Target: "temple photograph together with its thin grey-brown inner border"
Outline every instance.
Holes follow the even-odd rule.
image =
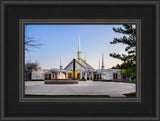
[[[25,68],[21,69],[24,78],[20,77],[20,80],[24,80],[20,84],[21,101],[33,100],[33,97],[56,101],[55,97],[57,96],[58,101],[60,101],[60,97],[81,97],[78,100],[74,98],[77,101],[86,101],[87,97],[92,97],[87,101],[140,101],[140,76],[138,76],[139,79],[136,79],[136,56],[140,60],[140,50],[138,50],[138,54],[136,53],[136,41],[137,46],[140,45],[140,38],[137,37],[140,34],[140,20],[85,19],[84,22],[84,19],[22,19],[19,30],[23,31],[20,39],[24,38],[20,44],[24,49],[19,52],[24,58],[22,62],[25,63]],[[31,32],[32,30],[35,34]],[[120,32],[122,30],[123,32]],[[129,31],[131,32],[127,34]],[[126,35],[121,36],[124,32]],[[105,33],[108,33],[108,39],[112,38],[113,41],[107,41],[107,37],[102,37]],[[121,33],[117,35],[119,39],[113,37],[115,33]],[[40,35],[42,35],[41,40],[34,39]],[[82,41],[82,35],[89,40]],[[109,37],[109,35],[112,36]],[[69,36],[68,39],[66,36]],[[42,39],[43,37],[44,39]],[[46,41],[46,37],[48,37],[48,41]],[[132,38],[131,41],[130,38]],[[76,39],[77,49],[75,48]],[[121,44],[119,49],[112,47],[112,44],[119,40],[121,40],[119,43],[124,44],[126,39],[130,43],[127,41],[125,46]],[[43,40],[45,41],[43,42]],[[101,46],[100,48],[98,48],[98,44]],[[85,46],[86,52],[89,51],[87,59],[86,52],[82,52],[83,46]],[[39,50],[31,51],[37,48]],[[125,52],[127,48],[129,48],[127,50],[129,54]],[[23,52],[23,50],[25,51]],[[77,53],[76,59],[72,56],[74,51]],[[123,54],[113,53],[115,51]],[[42,54],[43,52],[45,53]],[[34,55],[34,53],[36,54]],[[38,56],[38,53],[41,57]],[[45,57],[47,53],[48,56]],[[32,62],[31,59],[36,56],[39,57],[39,60],[35,59],[35,62]],[[43,61],[44,57],[48,59]],[[21,60],[22,58],[19,61]],[[65,67],[63,67],[62,61],[65,63]],[[43,67],[40,63],[43,64]],[[130,73],[129,76],[127,76],[128,73]],[[140,71],[137,73],[140,74]],[[37,85],[39,86],[37,87]],[[96,98],[93,99],[93,97]],[[71,101],[70,98],[68,99]]]

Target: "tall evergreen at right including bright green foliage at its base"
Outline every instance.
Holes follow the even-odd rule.
[[[113,31],[117,33],[121,33],[124,36],[121,38],[114,38],[111,44],[118,44],[122,43],[127,45],[125,48],[126,54],[117,54],[117,53],[110,53],[110,56],[113,58],[120,59],[123,61],[121,65],[117,64],[115,67],[112,68],[119,68],[122,70],[122,75],[125,77],[132,77],[135,79],[136,77],[136,27],[132,24],[123,24],[122,27],[114,28]]]

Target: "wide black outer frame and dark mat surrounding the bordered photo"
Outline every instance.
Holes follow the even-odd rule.
[[[159,5],[159,0],[1,1],[1,120],[159,120]],[[21,19],[140,20],[141,100],[21,101]]]

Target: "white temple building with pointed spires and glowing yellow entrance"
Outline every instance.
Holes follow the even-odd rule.
[[[119,69],[105,69],[104,66],[104,54],[102,53],[102,65],[99,69],[93,68],[89,65],[86,59],[82,59],[81,46],[80,46],[80,36],[78,42],[78,52],[77,59],[72,59],[66,67],[62,66],[62,59],[60,57],[59,69],[51,68],[49,70],[32,70],[31,78],[32,80],[43,79],[58,79],[63,76],[64,79],[84,79],[84,80],[118,80],[121,79],[121,70]]]

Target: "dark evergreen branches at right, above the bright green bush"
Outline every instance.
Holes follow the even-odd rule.
[[[127,45],[125,51],[128,53],[126,54],[117,54],[111,53],[110,56],[113,58],[117,58],[122,60],[124,63],[131,63],[132,65],[136,64],[136,28],[133,27],[132,24],[123,24],[123,27],[114,28],[113,31],[117,33],[124,34],[121,38],[114,38],[111,44],[122,43]]]

